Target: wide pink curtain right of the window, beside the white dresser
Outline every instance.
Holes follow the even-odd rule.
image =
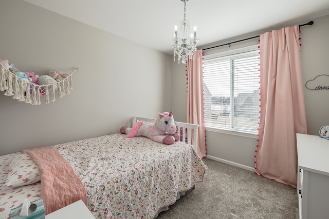
[[[299,27],[260,35],[257,174],[297,188],[296,133],[307,133]]]

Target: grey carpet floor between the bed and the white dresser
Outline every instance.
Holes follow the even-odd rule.
[[[157,219],[296,219],[297,189],[208,158],[203,183],[181,196]]]

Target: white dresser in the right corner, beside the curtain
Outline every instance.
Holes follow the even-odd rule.
[[[297,134],[300,219],[329,218],[329,140]]]

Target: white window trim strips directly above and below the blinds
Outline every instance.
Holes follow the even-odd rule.
[[[234,54],[238,54],[238,53],[250,52],[250,51],[254,51],[254,50],[259,50],[259,45],[252,45],[252,46],[242,47],[239,49],[232,49],[232,50],[228,50],[228,51],[208,54],[208,55],[204,55],[203,58],[204,58],[204,60],[207,60],[207,59],[212,59],[212,58],[234,55]],[[213,126],[211,126],[211,127],[205,126],[205,130],[211,131],[211,132],[223,133],[223,134],[244,136],[244,137],[249,137],[249,138],[256,138],[256,139],[258,138],[258,134],[255,134],[255,133],[247,133],[247,132],[243,132],[243,131],[233,131],[233,130],[223,129],[223,128],[219,128],[219,127],[213,127]]]

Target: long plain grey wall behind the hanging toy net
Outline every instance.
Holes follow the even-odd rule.
[[[54,103],[0,91],[0,155],[116,133],[135,115],[170,111],[170,55],[20,0],[2,1],[0,19],[0,58],[39,75],[80,69]]]

